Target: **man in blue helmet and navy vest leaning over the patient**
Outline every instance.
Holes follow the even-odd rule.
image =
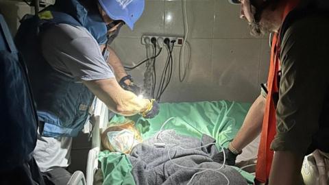
[[[138,88],[108,47],[143,9],[144,0],[58,0],[21,23],[15,42],[29,69],[41,136],[34,158],[49,184],[69,180],[72,137],[88,121],[95,96],[118,114],[158,114],[156,101],[130,92]]]

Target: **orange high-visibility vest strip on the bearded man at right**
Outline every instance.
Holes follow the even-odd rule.
[[[284,8],[283,19],[293,10],[298,4],[298,0],[287,2]],[[271,45],[271,60],[269,65],[269,77],[267,79],[267,99],[265,113],[263,119],[263,128],[260,136],[260,144],[258,149],[258,159],[256,165],[256,180],[258,182],[267,182],[271,164],[273,160],[273,151],[269,148],[271,142],[276,135],[276,103],[273,97],[278,97],[279,78],[280,78],[280,36],[273,35]]]

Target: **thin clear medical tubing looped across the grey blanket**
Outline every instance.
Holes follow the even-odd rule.
[[[171,119],[175,119],[175,117],[170,117],[169,119],[167,119],[167,121],[164,121],[164,123],[163,123],[162,126],[160,127],[160,131],[158,132],[158,134],[157,134],[157,136],[156,136],[156,139],[157,139],[157,140],[160,138],[161,142],[163,142],[163,141],[162,141],[162,138],[161,138],[161,132],[163,131],[164,125],[167,125],[167,123],[169,123],[169,121],[170,121]],[[209,146],[209,145],[216,145],[216,143],[208,143],[207,145],[203,145],[203,146],[201,146],[201,147],[195,147],[195,148],[191,148],[191,149],[185,149],[185,148],[180,147],[180,146],[178,146],[178,145],[173,145],[173,147],[180,147],[180,149],[183,149],[183,150],[192,150],[192,149],[199,149],[199,148],[202,148],[202,147],[207,147],[207,146]],[[170,145],[165,145],[165,146],[170,146]],[[226,178],[226,180],[228,181],[228,184],[227,184],[227,185],[230,184],[230,180],[228,179],[228,177],[227,177],[225,174],[223,174],[221,171],[218,171],[218,170],[222,169],[223,167],[225,167],[226,153],[225,153],[224,150],[223,150],[223,146],[219,145],[219,147],[221,147],[221,151],[223,152],[223,158],[224,158],[224,160],[223,160],[223,164],[222,164],[221,167],[219,167],[218,169],[207,169],[207,168],[184,167],[184,166],[182,166],[182,165],[180,165],[180,164],[176,164],[175,162],[173,162],[173,160],[172,160],[171,157],[170,157],[170,151],[171,151],[171,149],[173,149],[173,147],[170,147],[170,148],[168,149],[168,158],[169,158],[169,161],[172,162],[175,166],[177,166],[177,167],[181,167],[181,168],[183,168],[183,169],[202,170],[202,171],[199,171],[199,172],[195,173],[195,174],[191,177],[191,180],[188,181],[187,185],[191,184],[191,182],[192,182],[193,178],[195,177],[195,175],[197,175],[197,174],[199,174],[199,173],[204,173],[205,171],[215,171],[216,173],[219,173],[219,174],[223,175],[223,176]]]

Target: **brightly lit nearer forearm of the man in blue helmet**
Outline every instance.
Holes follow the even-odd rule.
[[[134,93],[123,90],[114,78],[87,81],[84,84],[106,103],[111,111],[123,116],[145,112],[150,103],[148,99],[138,98]]]

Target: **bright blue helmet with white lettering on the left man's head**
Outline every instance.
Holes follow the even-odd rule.
[[[134,29],[134,23],[143,14],[145,0],[98,0],[101,8],[113,20],[122,20]]]

